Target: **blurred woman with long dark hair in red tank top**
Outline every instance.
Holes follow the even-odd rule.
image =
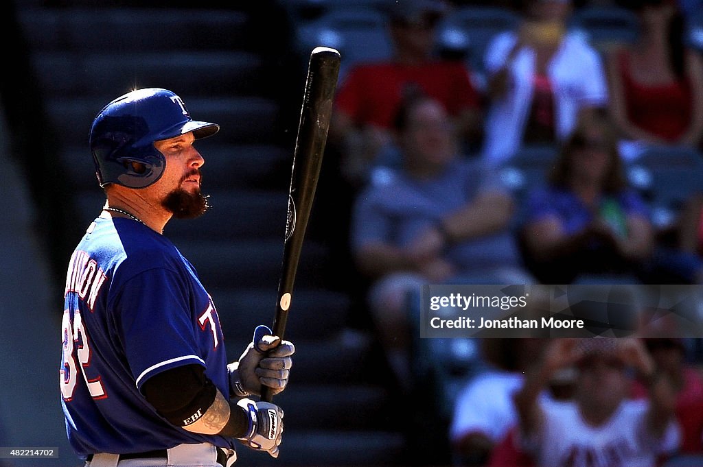
[[[684,19],[671,0],[628,0],[640,39],[607,56],[610,110],[623,156],[647,144],[697,147],[703,136],[703,62],[684,44]]]

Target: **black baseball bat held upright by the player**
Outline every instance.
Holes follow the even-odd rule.
[[[334,48],[316,47],[310,54],[300,121],[293,152],[285,221],[283,266],[278,284],[273,335],[283,339],[292,301],[293,283],[302,250],[305,230],[320,176],[332,104],[340,72],[340,53]],[[271,402],[271,388],[262,386],[261,399]]]

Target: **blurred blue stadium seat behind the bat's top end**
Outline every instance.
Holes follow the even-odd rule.
[[[340,51],[340,78],[356,63],[387,60],[392,56],[387,18],[372,8],[335,8],[301,25],[297,30],[297,49],[306,64],[316,46]]]

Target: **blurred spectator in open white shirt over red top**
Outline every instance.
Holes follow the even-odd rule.
[[[600,55],[566,29],[569,0],[524,0],[517,32],[504,32],[486,51],[490,107],[483,154],[491,164],[524,144],[553,144],[580,114],[607,106]]]

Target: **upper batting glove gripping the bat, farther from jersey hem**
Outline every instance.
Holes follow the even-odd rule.
[[[268,327],[258,326],[239,361],[227,366],[233,394],[261,395],[262,385],[271,388],[271,394],[280,393],[288,384],[293,353],[290,341],[281,341]]]

